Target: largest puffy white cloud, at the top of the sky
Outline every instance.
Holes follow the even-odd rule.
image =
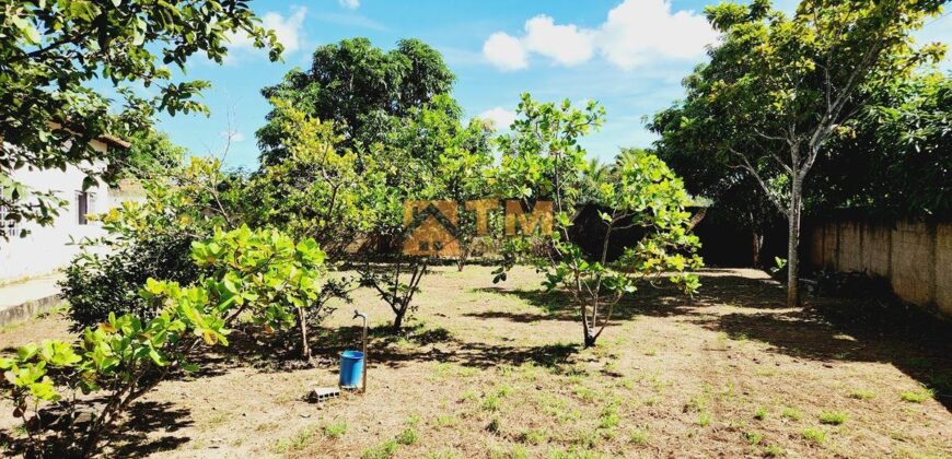
[[[595,28],[559,25],[547,15],[525,22],[522,37],[503,32],[489,36],[484,56],[503,70],[529,67],[529,56],[539,55],[562,66],[589,61],[597,51],[608,62],[629,70],[661,60],[694,59],[717,33],[704,15],[671,11],[670,0],[624,0]]]

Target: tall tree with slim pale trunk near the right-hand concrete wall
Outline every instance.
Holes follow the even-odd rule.
[[[867,106],[863,94],[942,55],[938,44],[914,49],[909,37],[941,3],[805,0],[792,16],[767,0],[706,10],[722,42],[685,80],[688,116],[681,123],[699,123],[695,129],[710,150],[750,173],[788,219],[788,304],[800,302],[798,249],[810,170],[832,136]]]

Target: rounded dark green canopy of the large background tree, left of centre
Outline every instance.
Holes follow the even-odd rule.
[[[402,39],[396,48],[384,51],[367,38],[351,38],[317,48],[310,70],[292,70],[262,93],[269,99],[288,101],[309,116],[334,121],[347,146],[355,148],[383,141],[394,127],[394,117],[449,94],[453,80],[440,52],[420,40]],[[265,164],[286,154],[278,113],[272,110],[257,132]]]

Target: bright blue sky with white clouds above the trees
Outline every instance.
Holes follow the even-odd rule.
[[[647,146],[651,116],[682,96],[681,80],[703,60],[712,39],[700,17],[715,0],[585,1],[253,1],[265,25],[286,46],[283,62],[235,37],[228,61],[219,66],[193,59],[188,79],[208,80],[202,102],[211,116],[165,117],[160,128],[193,154],[220,156],[231,138],[225,163],[255,167],[255,130],[268,104],[263,86],[294,67],[310,66],[312,51],[343,38],[364,36],[384,49],[400,38],[419,38],[443,54],[456,74],[454,96],[466,116],[506,125],[530,92],[542,101],[595,99],[605,106],[604,127],[590,136],[589,154],[608,160],[619,146]],[[777,4],[791,10],[793,0]],[[952,36],[952,19],[929,24],[929,40]],[[943,63],[950,68],[949,58]],[[231,133],[229,136],[229,132]]]

